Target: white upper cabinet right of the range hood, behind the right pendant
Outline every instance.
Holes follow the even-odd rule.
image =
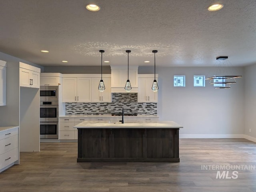
[[[138,102],[158,102],[158,92],[152,91],[152,84],[154,81],[154,74],[140,74],[138,78]],[[156,74],[157,76],[157,74]],[[158,78],[156,77],[158,81]]]

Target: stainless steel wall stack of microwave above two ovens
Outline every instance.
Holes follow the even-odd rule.
[[[58,139],[58,86],[40,86],[40,139]]]

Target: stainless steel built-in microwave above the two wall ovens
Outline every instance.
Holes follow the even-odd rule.
[[[58,101],[58,86],[40,86],[40,101]]]

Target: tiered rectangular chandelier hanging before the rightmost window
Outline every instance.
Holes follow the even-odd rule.
[[[218,63],[218,75],[206,78],[206,80],[210,80],[210,84],[213,84],[215,89],[230,88],[230,84],[236,83],[236,78],[242,77],[240,75],[222,74],[223,72],[221,71],[221,67],[229,67],[226,59],[228,59],[228,56],[217,57],[216,60]]]

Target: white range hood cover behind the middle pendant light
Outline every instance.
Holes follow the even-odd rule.
[[[128,79],[127,66],[111,66],[111,92],[126,92],[124,89]],[[129,67],[130,92],[138,92],[138,66]]]

